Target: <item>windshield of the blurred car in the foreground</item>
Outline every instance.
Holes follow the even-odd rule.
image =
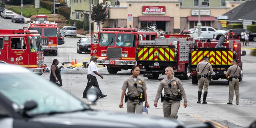
[[[90,109],[70,92],[32,73],[0,74],[0,94],[18,106],[28,100],[34,100],[37,107],[27,112],[28,115],[73,112]]]

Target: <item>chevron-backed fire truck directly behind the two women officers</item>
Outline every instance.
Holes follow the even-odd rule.
[[[189,46],[195,39],[186,34],[166,34],[150,43],[141,41],[136,48],[136,61],[148,79],[158,79],[164,74],[167,66],[173,68],[174,76],[189,79],[190,67],[188,64]]]

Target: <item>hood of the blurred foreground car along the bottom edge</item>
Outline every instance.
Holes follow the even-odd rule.
[[[138,114],[110,113],[100,111],[73,112],[35,117],[43,128],[177,128],[185,125],[170,120]],[[180,127],[179,127],[180,128]],[[181,127],[182,128],[182,127]]]

